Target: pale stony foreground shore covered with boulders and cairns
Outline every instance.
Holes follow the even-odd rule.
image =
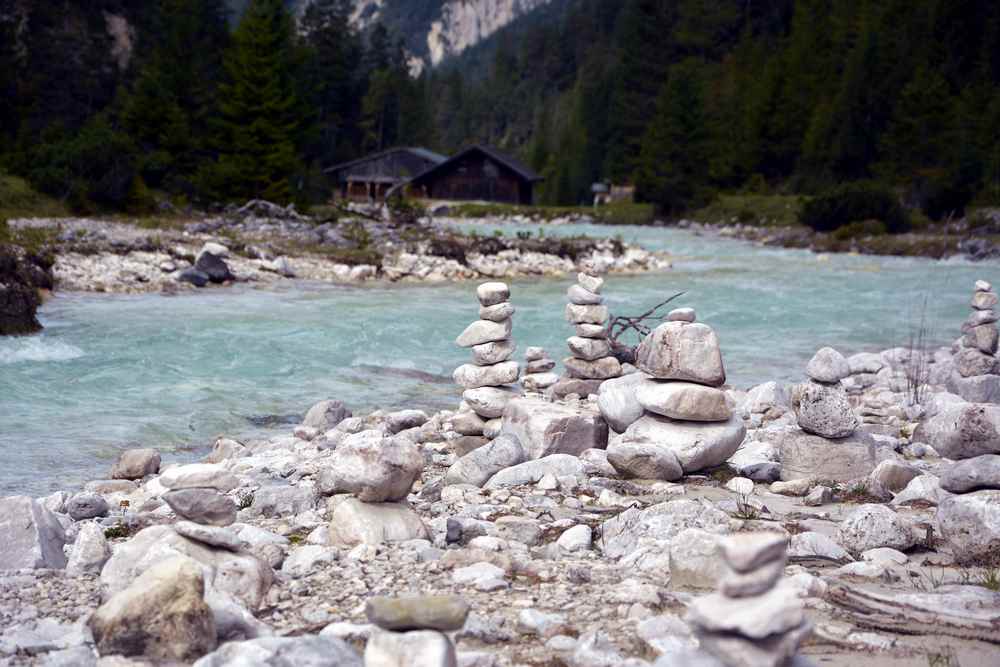
[[[570,288],[577,333],[601,290]],[[133,449],[82,490],[0,499],[0,663],[1000,658],[991,285],[951,347],[825,347],[803,382],[746,391],[725,332],[679,308],[635,366],[561,398],[516,384],[552,370],[510,361],[516,294],[476,297],[455,411],[324,400],[201,463]]]

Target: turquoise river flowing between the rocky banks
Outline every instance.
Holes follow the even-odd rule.
[[[525,229],[534,228],[516,230]],[[996,263],[823,257],[675,229],[545,229],[581,232],[670,251],[673,271],[607,280],[611,311],[636,314],[685,291],[676,305],[693,306],[716,329],[740,387],[801,378],[823,345],[845,353],[907,345],[922,314],[930,339],[947,344],[973,282],[1000,280]],[[512,284],[521,350],[542,345],[563,356],[571,283]],[[0,340],[0,496],[104,477],[129,446],[191,460],[216,435],[266,433],[324,398],[359,413],[454,407],[448,376],[468,358],[454,339],[477,307],[470,283],[59,294],[41,310],[42,334]]]

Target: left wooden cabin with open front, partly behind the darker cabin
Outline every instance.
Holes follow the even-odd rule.
[[[446,160],[444,155],[426,148],[399,147],[337,164],[324,172],[334,181],[336,196],[376,201],[385,197],[390,188]]]

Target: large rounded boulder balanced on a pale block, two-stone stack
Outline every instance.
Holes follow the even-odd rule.
[[[319,475],[330,499],[329,542],[353,547],[426,539],[427,527],[406,502],[424,469],[420,446],[382,430],[366,430],[337,445]],[[350,494],[350,495],[346,495]]]

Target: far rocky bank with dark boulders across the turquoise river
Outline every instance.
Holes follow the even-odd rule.
[[[480,237],[432,219],[405,226],[368,218],[323,222],[252,204],[227,216],[154,228],[65,218],[10,225],[50,231],[55,285],[65,291],[170,292],[289,279],[435,283],[558,277],[584,268],[610,273],[670,268],[665,254],[612,239]]]

